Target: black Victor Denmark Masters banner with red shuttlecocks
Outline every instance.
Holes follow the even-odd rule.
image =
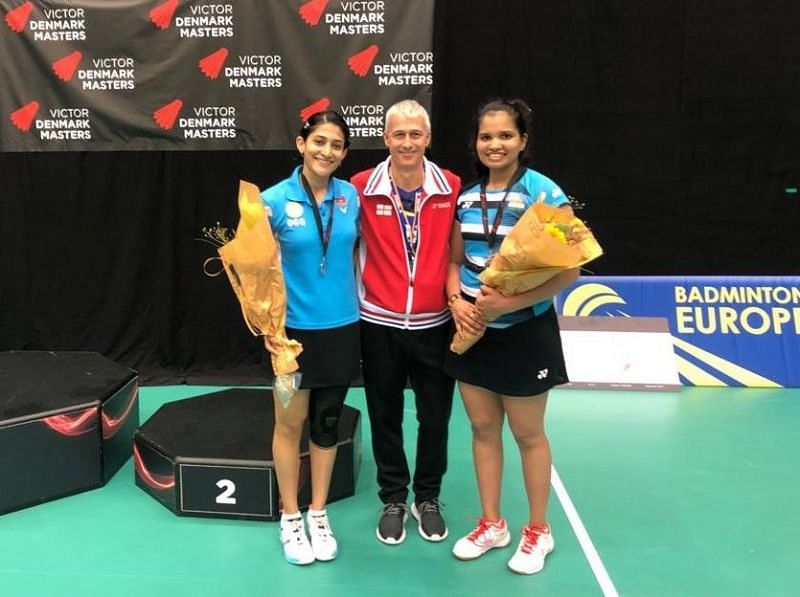
[[[430,108],[434,0],[0,0],[0,151],[289,149]]]

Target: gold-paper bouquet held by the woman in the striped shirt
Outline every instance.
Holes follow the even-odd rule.
[[[541,194],[503,239],[478,276],[481,283],[512,296],[541,286],[567,269],[597,259],[603,249],[572,210],[544,202]],[[466,352],[482,334],[456,333],[450,350]]]

